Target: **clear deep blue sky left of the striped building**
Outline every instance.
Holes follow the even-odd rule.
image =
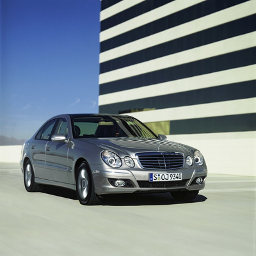
[[[0,135],[98,113],[100,0],[0,0]]]

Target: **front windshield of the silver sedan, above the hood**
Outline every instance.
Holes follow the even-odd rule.
[[[73,120],[74,138],[157,138],[150,129],[131,116],[90,116]]]

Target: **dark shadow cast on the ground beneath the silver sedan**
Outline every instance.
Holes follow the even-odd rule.
[[[71,200],[77,200],[76,191],[54,186],[45,186],[42,193],[60,196]],[[107,195],[102,198],[103,206],[140,206],[140,205],[172,205],[172,204],[192,204],[204,202],[207,198],[204,195],[198,195],[192,201],[175,200],[170,192],[166,193],[148,193],[148,194],[118,194]]]

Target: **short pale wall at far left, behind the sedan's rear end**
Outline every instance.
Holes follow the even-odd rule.
[[[0,146],[0,163],[19,163],[22,146]]]

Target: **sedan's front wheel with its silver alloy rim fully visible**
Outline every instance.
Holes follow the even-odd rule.
[[[100,198],[94,192],[92,174],[90,172],[88,165],[85,162],[79,165],[76,174],[76,193],[80,204],[100,204]]]

